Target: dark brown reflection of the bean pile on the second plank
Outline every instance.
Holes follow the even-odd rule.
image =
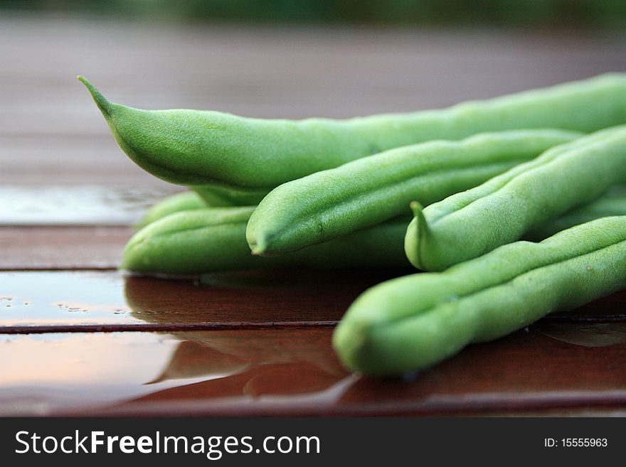
[[[133,316],[149,323],[335,321],[356,296],[405,270],[268,270],[193,281],[128,277]],[[409,271],[410,272],[410,271]]]

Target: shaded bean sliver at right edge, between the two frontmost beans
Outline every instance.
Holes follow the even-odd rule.
[[[575,208],[560,218],[548,220],[548,222],[524,235],[524,240],[540,242],[574,225],[584,224],[599,218],[607,218],[612,215],[626,215],[626,186],[620,185],[612,188],[601,198],[580,208]]]

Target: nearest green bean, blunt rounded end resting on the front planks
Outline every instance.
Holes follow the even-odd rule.
[[[334,348],[351,370],[400,375],[625,286],[626,217],[602,218],[378,284],[350,306]]]

